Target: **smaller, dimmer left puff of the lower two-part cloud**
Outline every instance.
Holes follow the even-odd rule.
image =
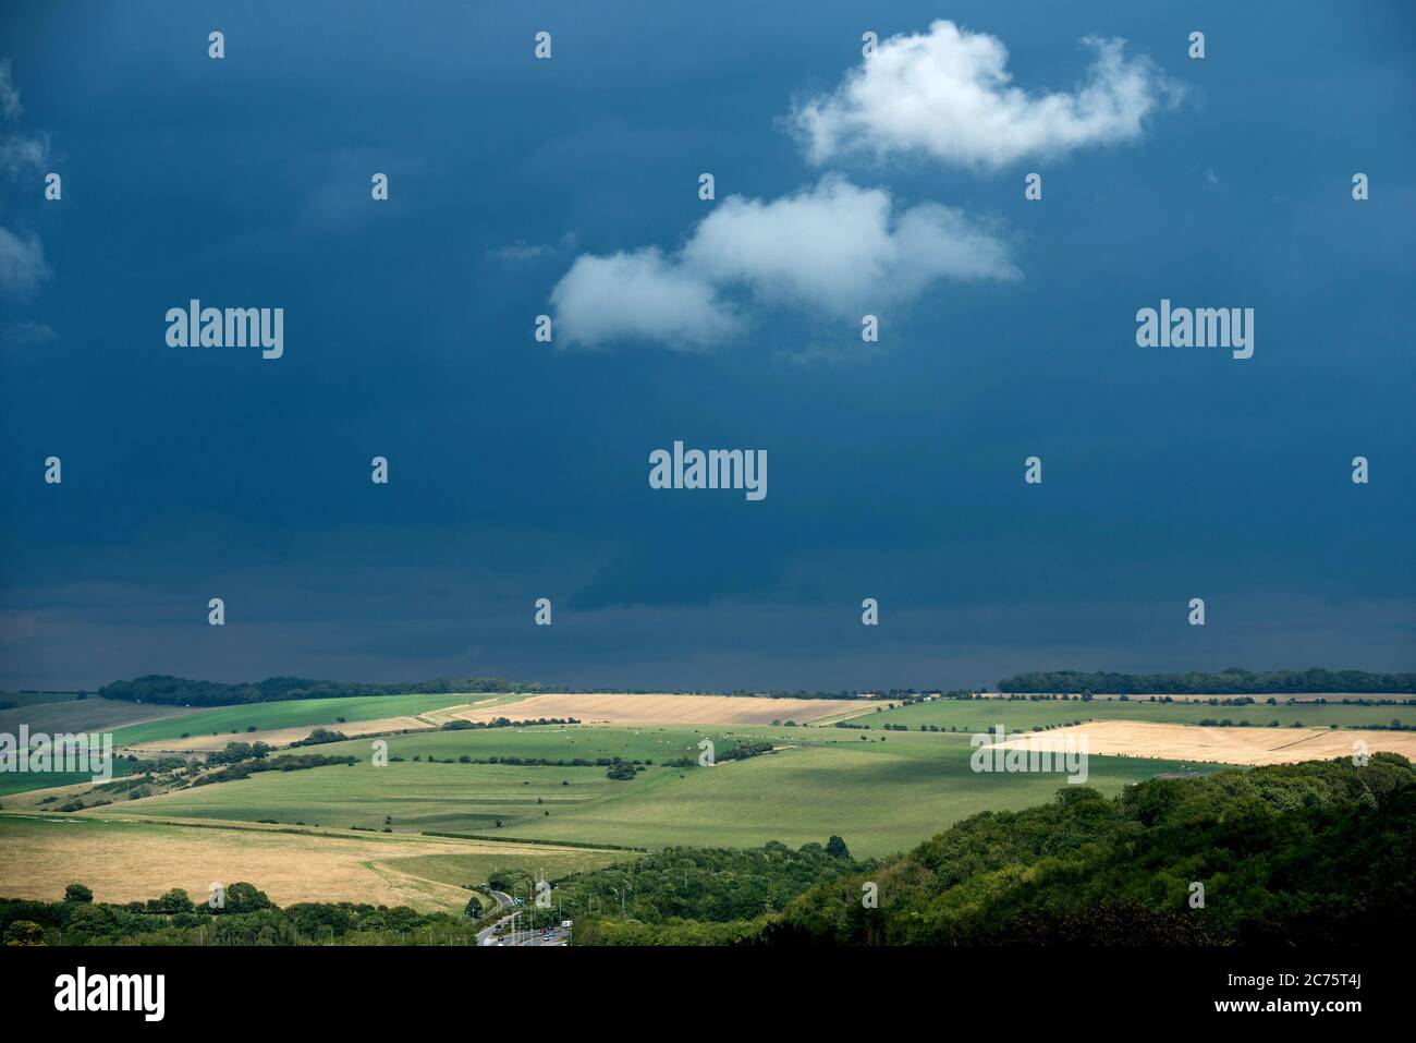
[[[583,254],[551,291],[556,340],[565,347],[651,340],[702,349],[738,330],[712,285],[650,247],[633,254]]]

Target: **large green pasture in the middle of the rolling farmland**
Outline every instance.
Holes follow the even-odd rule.
[[[792,744],[776,754],[712,768],[664,768],[615,781],[605,768],[446,764],[463,754],[517,757],[620,755],[663,761],[692,755],[704,737],[722,751],[735,740]],[[1059,775],[988,775],[970,769],[966,737],[838,728],[565,727],[394,735],[374,767],[370,741],[321,747],[351,752],[353,767],[263,772],[125,802],[123,815],[455,832],[581,843],[666,846],[793,846],[847,839],[852,852],[908,847],[980,811],[1024,808],[1052,798]],[[438,762],[415,762],[435,755]],[[1170,761],[1090,758],[1089,785],[1114,794],[1127,782],[1177,771]],[[113,812],[105,808],[103,812]],[[501,825],[497,826],[500,819]]]

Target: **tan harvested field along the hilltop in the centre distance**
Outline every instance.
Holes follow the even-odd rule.
[[[843,709],[838,699],[568,693],[530,696],[514,706],[477,707],[453,716],[467,721],[575,717],[582,724],[770,724],[776,720],[803,724]]]

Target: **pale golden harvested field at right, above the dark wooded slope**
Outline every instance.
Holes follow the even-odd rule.
[[[1005,747],[1062,750],[1068,737],[1086,735],[1087,752],[1116,757],[1154,757],[1212,764],[1291,764],[1351,757],[1355,743],[1368,752],[1398,752],[1416,760],[1416,733],[1355,731],[1348,728],[1216,728],[1194,724],[1092,721],[1070,728],[1017,735]]]

